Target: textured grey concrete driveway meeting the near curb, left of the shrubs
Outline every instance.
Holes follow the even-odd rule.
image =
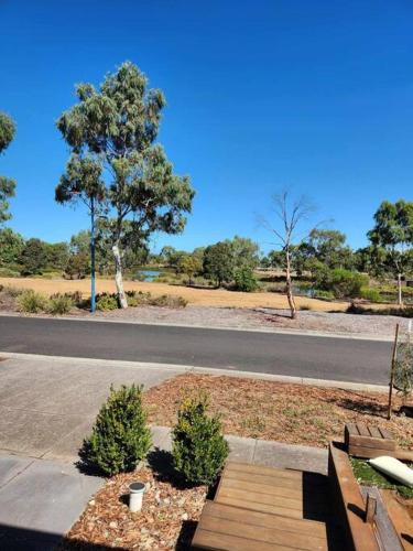
[[[111,383],[149,388],[177,372],[94,359],[1,359],[0,451],[74,461]]]

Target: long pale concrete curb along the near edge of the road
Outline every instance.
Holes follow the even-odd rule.
[[[170,370],[172,374],[206,374],[215,376],[226,376],[226,377],[239,377],[244,379],[258,379],[267,380],[273,382],[284,382],[290,385],[305,385],[313,387],[324,387],[324,388],[340,388],[344,390],[358,390],[363,392],[388,392],[389,387],[385,385],[372,385],[369,382],[354,382],[354,381],[339,381],[334,379],[317,379],[311,377],[294,377],[289,375],[272,375],[272,374],[260,374],[256,371],[242,371],[238,369],[224,369],[214,367],[200,367],[191,365],[175,365],[175,364],[155,364],[146,361],[127,361],[127,360],[116,360],[116,359],[97,359],[97,358],[76,358],[67,356],[46,356],[40,354],[22,354],[22,353],[8,353],[1,352],[3,355],[2,359],[35,359],[44,360],[50,363],[63,363],[63,364],[77,364],[83,365],[95,365],[105,366],[109,368],[126,367],[132,369],[155,369],[155,370]]]

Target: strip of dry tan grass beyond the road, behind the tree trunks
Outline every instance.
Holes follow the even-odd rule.
[[[64,279],[0,278],[0,283],[21,289],[34,289],[47,295],[80,291],[83,295],[87,296],[90,293],[90,280],[87,279],[69,281]],[[279,293],[241,293],[225,289],[193,289],[184,285],[139,281],[126,281],[124,288],[127,291],[150,291],[155,296],[161,294],[180,295],[186,299],[189,304],[198,306],[287,309],[285,296]],[[98,279],[97,292],[115,292],[113,280]],[[345,311],[348,306],[348,302],[335,302],[332,304],[301,296],[296,298],[296,303],[298,307],[308,306],[311,310],[319,312],[328,312],[330,310]]]

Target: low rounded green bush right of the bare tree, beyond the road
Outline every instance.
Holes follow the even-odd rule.
[[[316,287],[324,291],[332,291],[337,299],[360,296],[361,288],[366,287],[369,278],[360,272],[336,268],[323,268],[316,274]]]

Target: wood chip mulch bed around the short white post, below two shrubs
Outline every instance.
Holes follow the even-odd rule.
[[[128,486],[149,484],[141,512],[128,508]],[[161,480],[150,468],[109,479],[88,503],[59,551],[97,549],[189,549],[207,488],[182,489]]]

